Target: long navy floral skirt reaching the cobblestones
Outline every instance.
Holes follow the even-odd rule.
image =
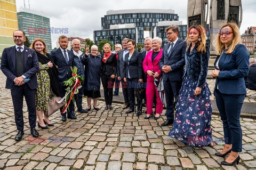
[[[170,137],[191,147],[207,146],[211,142],[211,91],[204,84],[201,94],[194,95],[197,82],[186,74],[179,92],[179,100]]]

